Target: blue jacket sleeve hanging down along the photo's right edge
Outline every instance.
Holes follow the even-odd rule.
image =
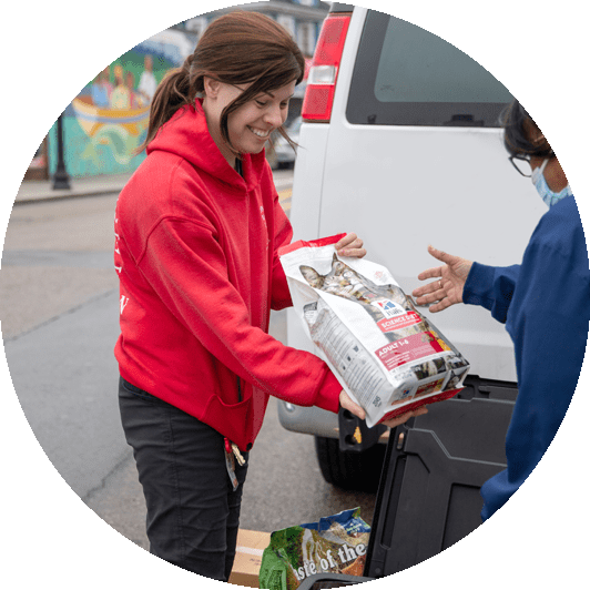
[[[525,253],[506,325],[519,386],[506,438],[508,467],[481,488],[484,520],[535,469],[576,390],[588,340],[590,281],[571,260],[542,242]]]

